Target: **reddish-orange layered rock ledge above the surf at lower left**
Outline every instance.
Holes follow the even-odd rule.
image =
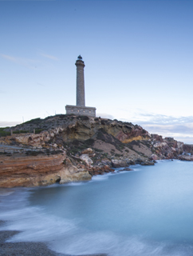
[[[44,186],[91,179],[88,170],[73,166],[65,152],[57,155],[0,155],[0,187]]]

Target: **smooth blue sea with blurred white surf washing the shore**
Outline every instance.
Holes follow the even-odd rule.
[[[7,242],[46,242],[61,254],[193,255],[193,162],[98,175],[89,182],[1,190]]]

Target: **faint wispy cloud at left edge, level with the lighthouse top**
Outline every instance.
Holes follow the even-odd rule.
[[[0,54],[0,56],[6,59],[7,61],[14,62],[18,65],[25,66],[30,69],[36,69],[37,63],[39,63],[39,61],[30,58],[18,58],[6,54]]]

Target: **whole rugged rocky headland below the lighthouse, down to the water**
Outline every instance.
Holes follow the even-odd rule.
[[[40,133],[30,132],[34,129]],[[157,159],[192,152],[192,146],[173,138],[104,118],[56,115],[7,128],[6,132],[10,130],[17,134],[1,137],[0,144],[27,146],[33,151],[0,155],[0,186],[4,187],[89,180],[94,174],[113,171],[112,167],[152,165]],[[53,150],[61,152],[53,154],[57,152]]]

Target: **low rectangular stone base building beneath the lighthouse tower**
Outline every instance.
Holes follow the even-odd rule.
[[[96,117],[96,108],[89,106],[65,106],[66,114],[77,114],[77,115],[87,115],[89,117]]]

